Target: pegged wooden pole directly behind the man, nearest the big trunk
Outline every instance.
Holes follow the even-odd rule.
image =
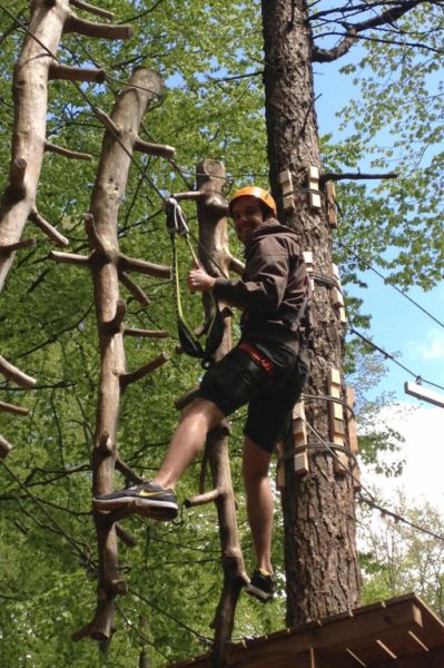
[[[197,203],[197,217],[199,223],[199,261],[211,276],[227,278],[229,271],[241,273],[243,264],[234,258],[228,247],[228,232],[226,215],[228,206],[224,197],[226,186],[226,171],[217,160],[203,160],[197,166],[196,193],[177,194],[177,199],[195,198]],[[204,294],[206,322],[211,322],[210,310],[214,307],[208,296]],[[219,304],[224,318],[225,331],[215,361],[220,360],[231,348],[230,317],[227,305]],[[177,402],[182,407],[194,396],[194,392]],[[188,499],[188,507],[214,502],[217,509],[221,566],[224,570],[224,584],[219,603],[211,627],[215,630],[211,666],[224,668],[228,666],[231,632],[236,612],[236,605],[241,588],[248,583],[245,571],[244,557],[239,543],[236,501],[233,491],[230,463],[228,455],[229,425],[226,420],[218,424],[209,434],[205,446],[203,472],[200,477],[199,494]],[[213,488],[205,491],[205,468],[209,464]]]

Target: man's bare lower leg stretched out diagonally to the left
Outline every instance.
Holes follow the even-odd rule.
[[[196,399],[185,409],[172,435],[164,462],[154,478],[164,488],[175,488],[177,481],[205,444],[207,433],[224,419],[211,401]]]

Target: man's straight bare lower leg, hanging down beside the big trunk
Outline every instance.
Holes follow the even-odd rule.
[[[256,551],[256,567],[273,573],[273,492],[268,479],[272,455],[246,436],[244,442],[244,483],[247,514]]]

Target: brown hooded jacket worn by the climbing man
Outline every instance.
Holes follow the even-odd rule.
[[[246,245],[245,258],[243,277],[217,278],[215,296],[244,308],[243,340],[272,340],[296,350],[294,322],[308,284],[298,236],[268,218]]]

